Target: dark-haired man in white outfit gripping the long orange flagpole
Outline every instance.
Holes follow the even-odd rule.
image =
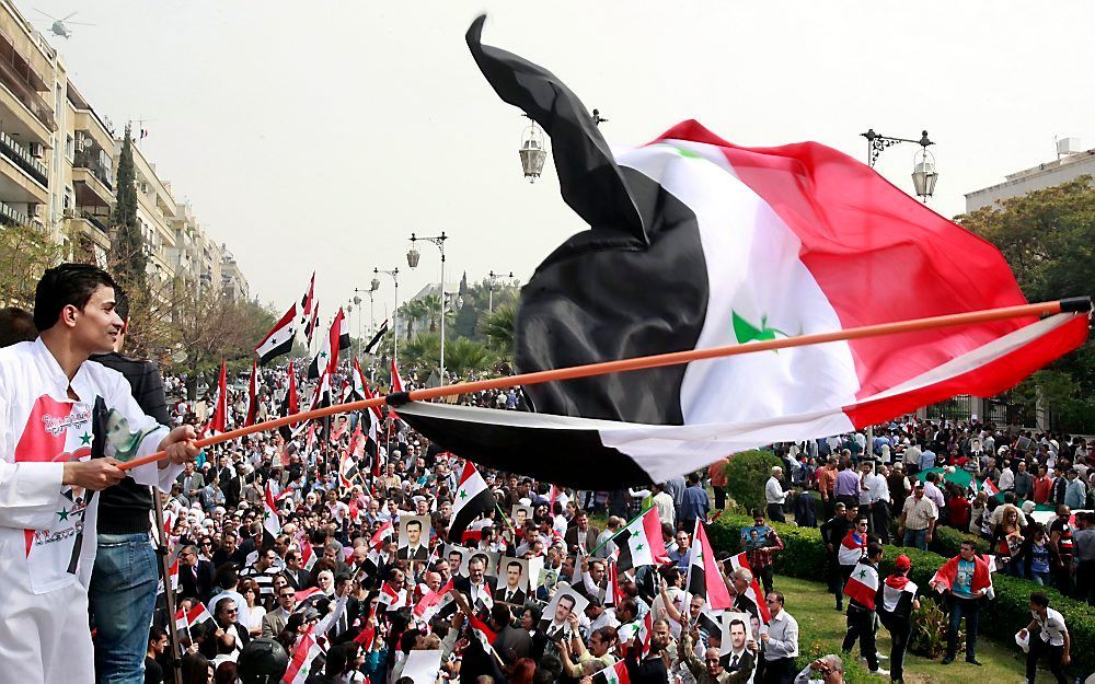
[[[157,425],[120,373],[88,361],[112,350],[123,325],[105,271],[47,270],[34,322],[35,341],[0,349],[0,672],[11,682],[90,684],[95,491],[127,475],[170,491],[197,456],[195,434]],[[106,431],[96,434],[96,424]],[[107,457],[92,459],[100,444]],[[160,450],[168,459],[158,464],[117,467]]]

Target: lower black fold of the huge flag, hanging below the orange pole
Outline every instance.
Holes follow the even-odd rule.
[[[578,489],[652,483],[630,456],[603,445],[597,430],[552,427],[568,420],[560,416],[423,402],[400,406],[399,411],[411,427],[446,451],[488,467]]]

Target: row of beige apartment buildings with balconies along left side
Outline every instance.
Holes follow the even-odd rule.
[[[0,230],[37,225],[73,255],[90,250],[105,266],[122,135],[68,79],[46,38],[0,0]],[[159,290],[169,281],[195,291],[228,287],[246,298],[235,259],[188,202],[175,200],[139,146],[132,152],[149,282]]]

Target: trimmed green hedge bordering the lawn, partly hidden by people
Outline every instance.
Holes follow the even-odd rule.
[[[814,528],[798,528],[789,524],[772,523],[780,533],[786,548],[775,554],[775,571],[779,575],[798,577],[814,581],[825,581],[825,546],[821,532]],[[714,550],[737,553],[741,538],[740,530],[752,525],[752,519],[744,515],[723,515],[708,529]],[[961,535],[957,530],[949,530]],[[960,541],[960,540],[959,540]],[[945,544],[957,544],[947,536]],[[885,577],[894,571],[894,559],[904,554],[912,560],[909,579],[917,582],[921,591],[930,591],[927,583],[947,558],[933,552],[885,545],[886,555],[879,567]],[[952,556],[957,555],[952,554]],[[992,577],[996,598],[981,610],[980,634],[992,637],[1000,644],[1014,644],[1015,633],[1030,622],[1030,593],[1038,589],[1034,582],[1007,577],[996,572]],[[1088,605],[1063,596],[1056,589],[1045,588],[1050,606],[1064,616],[1072,637],[1072,664],[1065,670],[1073,676],[1086,677],[1095,671],[1095,610]]]

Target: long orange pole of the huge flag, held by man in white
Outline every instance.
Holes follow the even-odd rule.
[[[325,418],[334,414],[343,414],[373,406],[381,406],[392,399],[394,405],[407,402],[424,402],[436,399],[442,396],[459,394],[470,394],[472,392],[483,392],[486,390],[502,390],[517,385],[534,385],[544,382],[557,382],[561,380],[574,380],[576,378],[589,378],[591,375],[603,375],[606,373],[621,373],[625,371],[643,370],[648,368],[660,368],[662,366],[678,366],[704,359],[717,359],[723,357],[739,356],[742,353],[753,353],[757,351],[770,351],[773,349],[791,349],[794,347],[806,347],[809,345],[821,345],[831,341],[844,341],[850,339],[863,339],[866,337],[881,337],[884,335],[898,335],[901,333],[913,333],[918,331],[929,331],[941,327],[953,327],[956,325],[972,325],[977,323],[988,323],[990,321],[1005,321],[1007,318],[1023,318],[1029,316],[1048,316],[1062,312],[1090,312],[1092,309],[1091,298],[1073,298],[1056,300],[1051,302],[1039,302],[1037,304],[1021,304],[1018,306],[1003,306],[1000,309],[986,309],[982,311],[971,311],[968,313],[947,314],[943,316],[930,316],[926,318],[913,318],[911,321],[896,321],[894,323],[879,323],[877,325],[864,325],[830,333],[815,333],[812,335],[798,335],[796,337],[783,337],[779,339],[764,339],[749,341],[738,345],[725,345],[722,347],[710,347],[706,349],[689,349],[687,351],[670,351],[668,353],[656,353],[647,357],[633,359],[621,359],[619,361],[601,361],[599,363],[587,363],[585,366],[574,366],[570,368],[558,368],[534,373],[523,373],[521,375],[509,375],[506,378],[495,378],[492,380],[479,380],[475,382],[463,382],[452,385],[441,385],[425,390],[414,390],[412,392],[396,392],[388,396],[377,396],[371,399],[337,404],[313,410],[306,410],[293,416],[275,418],[265,422],[258,422],[245,428],[239,428],[207,437],[195,441],[198,448],[212,447],[221,442],[233,439],[273,430],[292,422],[314,420]],[[138,465],[153,463],[165,457],[162,451],[150,454],[142,459],[135,459],[124,463],[118,467],[127,471]]]

